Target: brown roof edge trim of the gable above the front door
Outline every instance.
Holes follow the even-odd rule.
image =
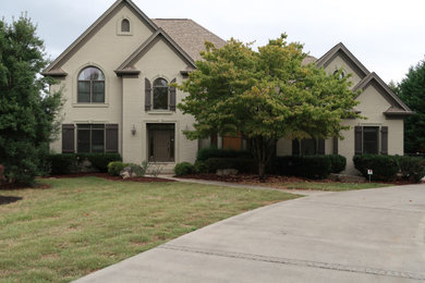
[[[195,67],[195,62],[192,58],[166,33],[162,28],[158,28],[145,42],[141,45],[117,70],[118,75],[138,74],[139,71],[134,67],[137,62],[156,42],[163,39],[180,58],[186,62],[190,67]]]

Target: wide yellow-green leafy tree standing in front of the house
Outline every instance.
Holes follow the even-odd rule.
[[[342,119],[356,115],[348,77],[303,65],[303,46],[286,38],[269,40],[258,52],[234,39],[219,49],[206,44],[204,60],[179,86],[189,93],[179,108],[196,119],[195,131],[184,134],[195,139],[243,133],[260,177],[279,138],[341,137]]]

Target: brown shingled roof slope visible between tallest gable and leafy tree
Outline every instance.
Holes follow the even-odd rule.
[[[217,48],[226,41],[190,19],[154,19],[154,23],[166,33],[194,60],[201,60],[199,52],[205,50],[205,41]]]

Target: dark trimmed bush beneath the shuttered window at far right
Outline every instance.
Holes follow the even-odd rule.
[[[368,179],[367,169],[373,170],[371,180],[393,181],[399,172],[398,158],[396,156],[362,155],[353,157],[354,167],[364,177]]]

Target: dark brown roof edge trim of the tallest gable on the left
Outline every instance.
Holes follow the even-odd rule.
[[[65,76],[66,73],[60,67],[68,61],[73,53],[75,53],[88,39],[90,39],[100,28],[108,22],[123,5],[127,5],[135,14],[146,23],[151,32],[158,29],[157,25],[144,14],[137,5],[131,0],[117,0],[99,19],[96,20],[74,42],[71,44],[47,69],[41,73],[42,75]]]

